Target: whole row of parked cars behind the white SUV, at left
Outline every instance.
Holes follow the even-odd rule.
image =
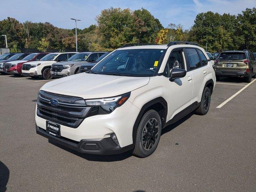
[[[0,73],[42,77],[46,80],[90,70],[107,52],[6,53]]]

